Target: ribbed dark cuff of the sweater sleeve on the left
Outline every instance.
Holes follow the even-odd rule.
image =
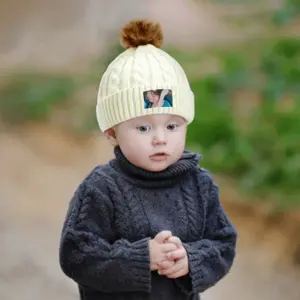
[[[132,248],[127,258],[130,277],[135,282],[137,290],[151,291],[151,270],[149,254],[149,238],[145,238],[131,244]]]

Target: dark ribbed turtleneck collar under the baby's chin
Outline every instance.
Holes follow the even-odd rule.
[[[120,147],[114,148],[115,159],[110,165],[115,171],[124,175],[133,184],[148,187],[166,187],[180,181],[183,176],[192,169],[195,169],[200,160],[200,155],[184,150],[181,158],[160,172],[147,171],[133,165],[122,153]]]

